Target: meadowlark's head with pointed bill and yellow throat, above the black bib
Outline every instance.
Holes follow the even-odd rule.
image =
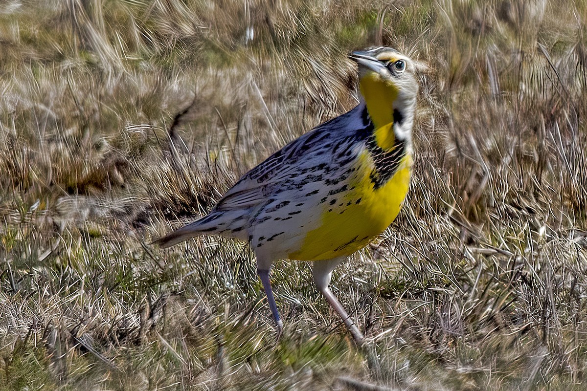
[[[395,123],[396,136],[409,133],[418,94],[417,63],[390,47],[352,52],[349,58],[359,64],[360,93],[375,126]]]

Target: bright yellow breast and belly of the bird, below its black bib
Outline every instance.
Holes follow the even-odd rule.
[[[373,161],[367,151],[357,159],[357,175],[349,191],[334,205],[322,206],[321,222],[306,233],[299,250],[289,259],[327,260],[362,249],[396,218],[410,183],[411,156],[402,158],[395,174],[376,188],[370,178]]]

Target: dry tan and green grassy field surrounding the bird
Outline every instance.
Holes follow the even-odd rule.
[[[0,389],[584,390],[587,4],[0,3]],[[357,102],[353,49],[420,74],[410,194],[335,271],[149,243]]]

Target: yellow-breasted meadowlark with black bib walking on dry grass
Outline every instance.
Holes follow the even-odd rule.
[[[316,285],[355,340],[363,335],[328,285],[334,268],[396,218],[408,190],[418,84],[414,62],[389,47],[353,52],[362,100],[251,169],[211,212],[156,242],[248,240],[278,333],[269,282],[276,259],[313,261]]]

